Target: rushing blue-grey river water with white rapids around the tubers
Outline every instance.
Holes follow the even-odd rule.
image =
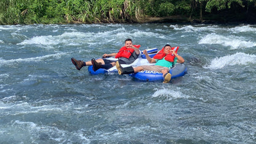
[[[255,143],[255,25],[0,26],[0,143]],[[169,84],[76,70],[117,52],[179,46]]]

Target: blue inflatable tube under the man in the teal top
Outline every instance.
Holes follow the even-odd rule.
[[[183,63],[177,63],[174,68],[170,69],[169,73],[172,74],[172,79],[178,78],[187,73],[187,68]],[[140,71],[130,74],[130,76],[141,81],[163,81],[162,73],[156,71]]]

